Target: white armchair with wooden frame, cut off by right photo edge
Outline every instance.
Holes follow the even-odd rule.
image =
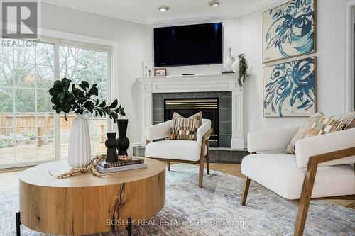
[[[300,199],[294,235],[302,235],[311,198],[355,199],[355,128],[298,140],[296,154],[285,154],[300,125],[249,133],[251,153],[241,162],[246,178],[286,199]],[[317,174],[317,176],[316,176]]]

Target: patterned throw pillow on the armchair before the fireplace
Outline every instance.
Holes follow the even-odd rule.
[[[202,112],[189,118],[173,113],[169,140],[196,140],[197,129],[202,123]]]

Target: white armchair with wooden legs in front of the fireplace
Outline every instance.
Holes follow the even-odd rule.
[[[209,174],[209,136],[212,133],[211,120],[202,119],[202,125],[197,129],[197,140],[153,140],[169,137],[172,120],[153,125],[147,129],[146,157],[160,159],[168,163],[170,161],[200,164],[199,186],[202,188],[204,158],[207,162],[207,174]]]

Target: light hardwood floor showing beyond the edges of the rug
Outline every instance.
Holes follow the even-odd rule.
[[[171,162],[171,164],[178,164],[176,162]],[[245,178],[243,174],[241,174],[241,165],[240,164],[217,164],[211,163],[209,164],[210,169],[223,172],[226,174],[231,174],[237,176],[239,178]],[[0,189],[5,187],[13,187],[18,186],[18,174],[21,171],[13,171],[13,172],[0,172]],[[355,209],[355,201],[354,200],[323,200],[329,203],[337,204],[340,206],[345,206],[347,208]],[[296,201],[290,201],[291,203],[296,203]]]

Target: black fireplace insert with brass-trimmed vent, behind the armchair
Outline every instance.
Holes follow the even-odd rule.
[[[210,147],[219,147],[219,98],[164,99],[164,121],[171,120],[174,112],[187,118],[200,111],[202,118],[209,119],[212,123]]]

